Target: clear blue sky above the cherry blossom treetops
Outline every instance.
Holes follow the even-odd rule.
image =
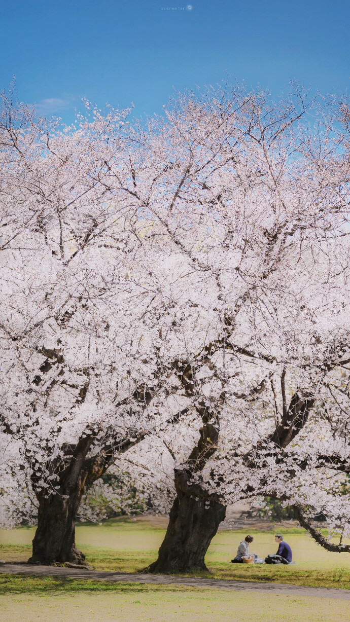
[[[349,0],[0,0],[0,86],[73,120],[80,96],[161,113],[173,88],[227,74],[285,90],[350,87]]]

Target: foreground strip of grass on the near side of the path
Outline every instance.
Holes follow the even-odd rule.
[[[7,580],[12,583],[14,577],[7,575]],[[22,577],[16,580],[26,583]],[[103,582],[97,585],[82,580],[71,581],[68,586],[67,581],[51,578],[46,589],[42,580],[38,580],[36,586],[31,582],[31,590],[27,592],[1,596],[0,620],[52,622],[53,619],[55,622],[348,622],[349,601],[164,585],[161,588]]]

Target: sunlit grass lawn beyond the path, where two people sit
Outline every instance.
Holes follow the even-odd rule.
[[[34,532],[34,527],[0,530],[0,559],[27,560]],[[137,572],[156,559],[164,532],[145,521],[111,519],[102,525],[78,525],[77,545],[97,570]],[[277,550],[273,532],[251,532],[252,552],[265,557]],[[222,531],[215,536],[207,553],[210,576],[350,589],[350,554],[329,553],[311,541],[302,529],[292,528],[284,533],[296,565],[230,564],[246,531]]]

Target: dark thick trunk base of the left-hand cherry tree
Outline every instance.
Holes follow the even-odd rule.
[[[28,564],[84,564],[85,555],[75,547],[75,518],[79,503],[80,494],[69,499],[60,494],[40,499],[38,526]]]

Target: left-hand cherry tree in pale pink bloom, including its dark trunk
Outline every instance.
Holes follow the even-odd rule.
[[[3,98],[2,465],[28,507],[36,498],[33,563],[82,564],[83,494],[115,457],[186,414],[159,377],[166,258],[159,251],[153,274],[146,221],[123,189],[125,118],[93,111],[61,131]]]

